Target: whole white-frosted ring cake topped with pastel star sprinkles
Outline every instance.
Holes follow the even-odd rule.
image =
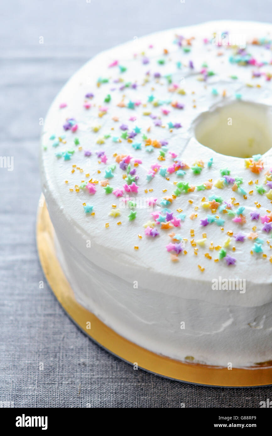
[[[272,360],[272,25],[214,21],[98,54],[41,138],[76,300],[183,362]]]

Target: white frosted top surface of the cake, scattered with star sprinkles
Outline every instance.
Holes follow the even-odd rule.
[[[135,37],[84,65],[42,135],[45,198],[67,238],[82,252],[90,239],[106,269],[114,257],[199,283],[270,283],[271,150],[233,157],[230,141],[217,153],[194,126],[221,107],[231,129],[228,104],[244,116],[256,102],[269,109],[271,49],[270,25],[219,21]]]

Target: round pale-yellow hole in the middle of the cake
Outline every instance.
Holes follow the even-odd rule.
[[[251,157],[272,147],[272,110],[259,103],[233,102],[203,112],[194,123],[198,142],[227,156]]]

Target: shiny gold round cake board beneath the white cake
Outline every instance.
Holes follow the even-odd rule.
[[[186,363],[161,356],[128,341],[107,327],[75,299],[55,252],[54,229],[41,195],[37,213],[37,247],[42,269],[63,309],[76,325],[103,348],[131,364],[163,377],[200,385],[244,387],[272,384],[272,362],[251,368]],[[87,329],[91,323],[91,329]]]

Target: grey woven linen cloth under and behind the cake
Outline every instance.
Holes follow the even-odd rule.
[[[223,18],[271,22],[270,1],[14,0],[1,15],[0,155],[14,156],[14,170],[0,168],[0,406],[243,408],[272,399],[267,387],[208,388],[133,371],[79,331],[46,283],[39,289],[35,246],[39,119],[70,75],[152,31]]]

